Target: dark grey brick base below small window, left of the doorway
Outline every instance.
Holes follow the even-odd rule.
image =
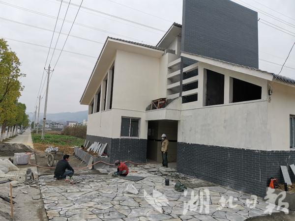
[[[110,156],[110,163],[116,160],[133,161],[135,163],[147,162],[147,139],[137,138],[105,138],[87,135],[90,144],[94,141],[108,143],[105,153]]]

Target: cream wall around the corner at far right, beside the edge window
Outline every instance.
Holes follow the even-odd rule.
[[[271,102],[268,103],[268,121],[273,150],[290,150],[289,117],[295,115],[295,87],[272,84]]]

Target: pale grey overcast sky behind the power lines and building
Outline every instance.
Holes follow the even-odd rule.
[[[261,11],[258,13],[258,17],[261,18],[258,23],[259,67],[262,70],[278,73],[281,67],[265,60],[283,64],[287,57],[295,41],[295,0],[233,1]],[[80,4],[81,0],[71,2]],[[27,77],[21,79],[25,89],[20,102],[27,105],[29,112],[34,111],[36,104],[48,53],[46,47],[49,47],[52,38],[59,5],[59,0],[0,0],[0,37],[5,38],[12,50],[17,53],[22,62],[21,71],[27,74]],[[67,3],[62,4],[59,14],[62,19],[67,5]],[[68,52],[62,52],[50,82],[47,109],[50,113],[88,110],[87,106],[79,104],[79,100],[107,36],[155,45],[173,22],[181,24],[182,20],[182,0],[84,0],[82,5],[155,29],[81,8],[76,19],[76,23],[80,25],[73,26],[70,34],[73,36],[69,36],[64,47],[64,50]],[[78,7],[70,6],[66,20],[73,21],[77,10]],[[275,18],[270,16],[275,16]],[[283,20],[285,24],[279,22],[278,19]],[[284,31],[289,34],[268,27],[261,22],[269,22],[273,24],[272,26],[284,28],[286,29]],[[59,31],[61,24],[62,21],[59,20],[56,31]],[[70,27],[71,23],[65,22],[62,32],[68,33]],[[57,37],[58,33],[54,36],[52,47],[55,46]],[[62,48],[65,39],[66,35],[61,34],[57,49]],[[51,59],[52,51],[49,59]],[[52,66],[56,63],[59,53],[60,51],[55,51]],[[281,75],[295,79],[295,48]],[[41,96],[45,88],[46,85]],[[45,96],[41,102],[40,112],[44,111],[44,101]]]

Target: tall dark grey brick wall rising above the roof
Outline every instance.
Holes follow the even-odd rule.
[[[258,68],[257,18],[230,0],[183,0],[181,51]]]

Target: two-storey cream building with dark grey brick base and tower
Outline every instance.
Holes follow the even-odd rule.
[[[110,162],[159,162],[165,133],[178,171],[263,196],[295,163],[295,80],[258,64],[257,12],[183,0],[156,46],[106,39],[80,100],[87,140]]]

